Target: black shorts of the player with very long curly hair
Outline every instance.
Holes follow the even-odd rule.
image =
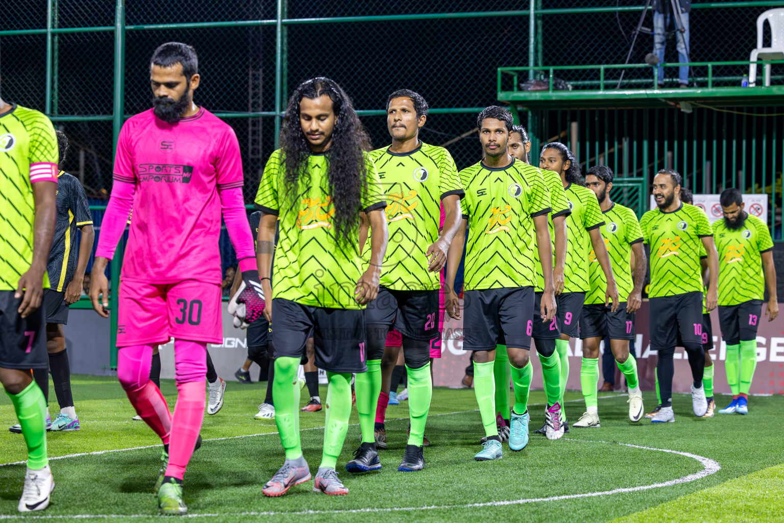
[[[274,298],[275,358],[305,357],[305,343],[314,338],[315,365],[327,372],[366,372],[365,311],[303,305]]]

